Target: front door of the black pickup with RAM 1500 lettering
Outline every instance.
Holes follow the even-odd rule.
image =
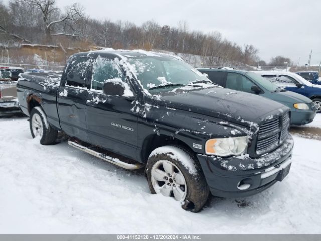
[[[125,96],[106,95],[106,80],[123,81]],[[93,64],[90,90],[86,100],[89,142],[109,151],[135,157],[137,149],[137,113],[132,111],[135,97],[121,68],[111,59],[98,57]]]

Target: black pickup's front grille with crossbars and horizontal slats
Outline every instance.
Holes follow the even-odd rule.
[[[288,136],[290,125],[289,113],[265,122],[260,126],[256,153],[261,155],[277,147]]]

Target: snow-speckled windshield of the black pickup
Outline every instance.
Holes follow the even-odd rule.
[[[138,80],[150,93],[216,86],[198,70],[174,57],[145,56],[128,61],[136,68]]]

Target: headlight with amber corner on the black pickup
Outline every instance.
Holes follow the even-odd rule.
[[[231,156],[245,153],[247,136],[210,139],[205,144],[205,153],[215,156]]]

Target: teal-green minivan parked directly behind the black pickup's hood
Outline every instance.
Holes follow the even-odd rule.
[[[287,91],[254,72],[214,68],[199,68],[198,70],[207,74],[213,83],[222,87],[256,94],[286,105],[291,109],[292,125],[310,123],[315,117],[316,110],[312,100],[300,94]]]

